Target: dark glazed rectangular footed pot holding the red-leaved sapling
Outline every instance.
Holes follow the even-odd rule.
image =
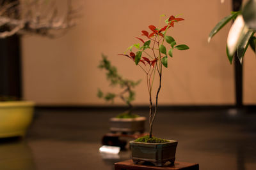
[[[178,141],[168,141],[166,143],[130,141],[132,161],[134,164],[138,164],[140,161],[150,162],[155,166],[163,166],[168,161],[174,164]]]

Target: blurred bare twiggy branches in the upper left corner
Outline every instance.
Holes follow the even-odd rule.
[[[38,34],[54,38],[56,30],[75,25],[72,0],[0,0],[0,38],[13,34]],[[60,3],[61,2],[61,3]]]

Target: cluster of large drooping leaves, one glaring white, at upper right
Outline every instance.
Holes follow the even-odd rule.
[[[208,42],[222,27],[228,22],[234,20],[234,24],[230,28],[227,38],[227,57],[232,64],[234,54],[237,53],[237,57],[240,63],[243,63],[244,53],[250,45],[253,52],[256,48],[256,37],[254,36],[256,31],[256,0],[249,0],[240,11],[232,11],[230,15],[223,18],[212,29],[209,34]]]

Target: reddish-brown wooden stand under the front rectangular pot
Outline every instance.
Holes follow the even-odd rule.
[[[199,170],[199,164],[188,163],[188,162],[178,162],[175,161],[174,165],[166,165],[163,167],[148,166],[143,164],[133,164],[132,160],[125,160],[123,162],[115,163],[115,170],[146,170],[146,169],[165,169],[165,170]]]

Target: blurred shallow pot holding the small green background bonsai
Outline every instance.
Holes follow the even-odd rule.
[[[110,131],[122,133],[134,133],[145,131],[145,117],[137,118],[110,118]]]

